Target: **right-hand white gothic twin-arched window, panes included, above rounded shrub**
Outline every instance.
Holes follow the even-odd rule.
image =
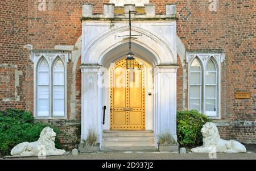
[[[224,53],[188,52],[189,110],[220,118],[220,66]]]

